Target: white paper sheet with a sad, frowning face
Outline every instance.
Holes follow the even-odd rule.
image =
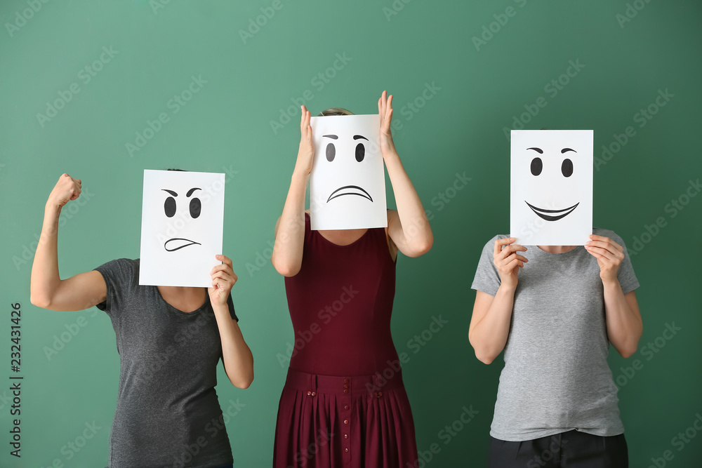
[[[312,117],[310,224],[318,229],[386,227],[380,116]]]

